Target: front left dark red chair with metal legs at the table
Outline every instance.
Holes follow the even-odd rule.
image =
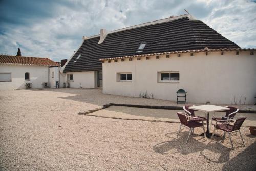
[[[205,138],[205,140],[206,140],[205,129],[204,129],[204,120],[203,120],[202,118],[187,116],[186,113],[182,113],[182,112],[177,112],[177,115],[178,115],[178,117],[179,117],[179,119],[180,119],[180,129],[179,129],[179,131],[178,131],[178,133],[177,133],[177,138],[178,138],[178,136],[179,136],[179,134],[180,134],[181,126],[184,126],[184,127],[188,128],[188,129],[190,129],[189,135],[188,135],[188,137],[187,137],[186,144],[187,144],[187,142],[188,142],[188,139],[189,139],[189,137],[190,137],[191,132],[193,131],[193,129],[194,129],[195,127],[203,127],[203,130],[204,130],[204,138]],[[189,120],[188,118],[190,118],[190,120]],[[195,120],[191,120],[192,118],[195,119]],[[199,121],[202,121],[202,123],[200,123]]]

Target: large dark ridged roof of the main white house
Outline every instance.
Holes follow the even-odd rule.
[[[208,47],[240,48],[234,42],[199,20],[184,17],[165,23],[109,33],[102,44],[99,36],[84,40],[82,46],[66,65],[64,72],[101,70],[99,59],[170,51],[197,50]],[[146,46],[136,53],[141,42]],[[74,62],[77,56],[81,57]]]

